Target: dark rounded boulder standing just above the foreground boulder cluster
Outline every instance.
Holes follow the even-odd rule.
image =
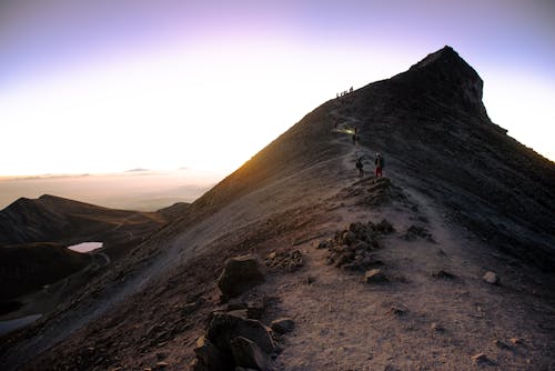
[[[259,260],[255,255],[244,255],[228,259],[218,287],[224,300],[240,295],[246,290],[264,281]]]

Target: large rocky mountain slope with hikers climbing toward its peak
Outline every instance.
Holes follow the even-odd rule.
[[[554,368],[555,164],[483,84],[445,47],[324,102],[2,337],[2,369]]]

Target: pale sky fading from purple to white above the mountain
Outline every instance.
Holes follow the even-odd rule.
[[[233,171],[445,44],[555,160],[553,0],[2,0],[0,176]]]

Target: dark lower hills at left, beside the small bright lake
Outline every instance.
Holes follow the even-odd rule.
[[[67,249],[103,242],[118,259],[167,223],[170,213],[113,210],[44,194],[0,211],[0,302],[42,288],[91,262]]]

